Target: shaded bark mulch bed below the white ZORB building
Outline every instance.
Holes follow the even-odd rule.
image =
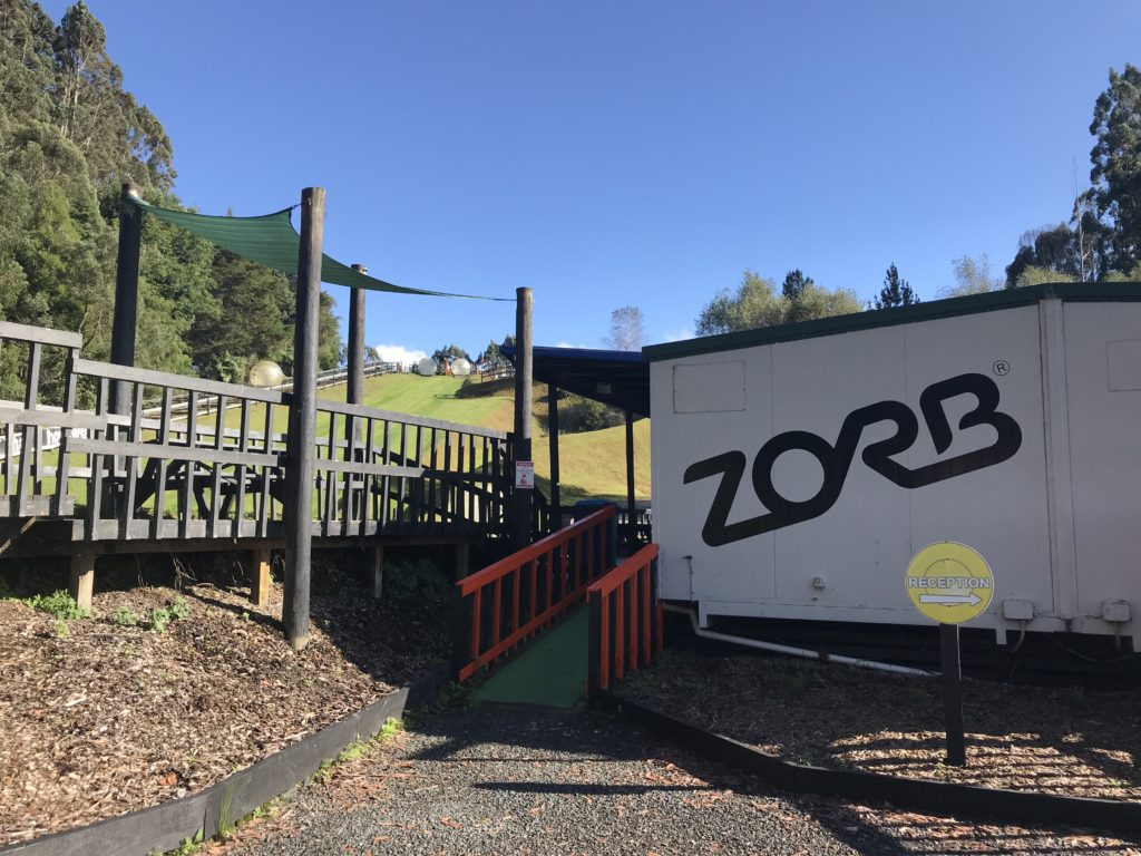
[[[1141,798],[1141,692],[965,680],[968,766],[946,752],[938,678],[727,648],[667,652],[618,691],[801,764],[1071,797]]]

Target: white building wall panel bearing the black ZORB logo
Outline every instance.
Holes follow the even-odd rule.
[[[1039,342],[1029,306],[654,363],[663,595],[699,600],[703,615],[925,623],[906,597],[905,570],[922,547],[952,540],[995,572],[990,611],[973,625],[1004,627],[995,616],[1005,598],[1051,613]],[[713,363],[726,364],[726,389],[685,388],[710,383],[715,370],[701,366]],[[729,364],[743,366],[743,411],[730,406],[742,383]],[[997,405],[980,403],[993,395]],[[689,412],[696,405],[707,411]],[[1003,415],[990,417],[992,405]],[[939,413],[941,449],[929,425]],[[725,475],[709,462],[726,455],[742,478],[711,543],[703,527],[715,523]],[[702,461],[705,477],[687,484]],[[923,474],[930,483],[898,483]]]

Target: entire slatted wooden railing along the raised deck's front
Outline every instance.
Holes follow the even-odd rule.
[[[0,517],[70,517],[89,541],[283,534],[291,393],[82,360],[73,333],[0,323],[0,339],[24,370],[23,401],[0,403]],[[314,534],[508,534],[509,435],[326,399],[317,421]]]

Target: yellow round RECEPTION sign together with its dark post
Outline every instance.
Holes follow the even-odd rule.
[[[994,574],[986,559],[966,544],[939,541],[915,554],[907,565],[904,586],[915,608],[939,622],[947,764],[964,767],[966,737],[958,625],[986,612],[994,593]]]

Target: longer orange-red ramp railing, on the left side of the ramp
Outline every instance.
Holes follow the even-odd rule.
[[[614,506],[455,583],[452,673],[467,680],[581,603],[608,570]]]

